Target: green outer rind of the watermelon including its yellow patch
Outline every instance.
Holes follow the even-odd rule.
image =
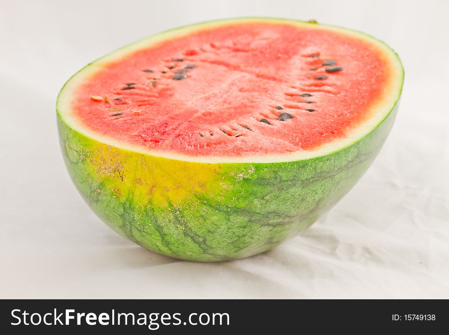
[[[60,117],[58,127],[72,181],[100,218],[147,249],[207,262],[263,252],[310,226],[369,167],[396,111],[397,104],[375,130],[339,151],[266,164],[156,158],[99,143]]]

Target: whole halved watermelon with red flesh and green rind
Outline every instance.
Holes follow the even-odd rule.
[[[163,32],[62,88],[63,157],[119,234],[192,261],[266,251],[310,226],[371,164],[395,118],[394,51],[351,30],[271,18]]]

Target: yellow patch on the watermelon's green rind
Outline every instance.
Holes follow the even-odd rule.
[[[218,173],[220,164],[153,157],[102,143],[94,144],[88,161],[115,195],[132,197],[142,205],[149,201],[159,207],[181,205],[195,194],[216,194],[224,179]]]

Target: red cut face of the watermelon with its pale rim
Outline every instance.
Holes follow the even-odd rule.
[[[400,96],[388,46],[341,28],[234,19],[168,31],[78,72],[69,126],[116,147],[195,162],[321,156],[371,132]]]

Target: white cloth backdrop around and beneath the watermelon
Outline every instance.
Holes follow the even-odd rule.
[[[449,2],[0,4],[0,298],[449,298]],[[121,45],[234,16],[377,36],[404,62],[401,108],[361,181],[302,235],[245,260],[177,261],[119,237],[83,202],[63,165],[56,96]]]

